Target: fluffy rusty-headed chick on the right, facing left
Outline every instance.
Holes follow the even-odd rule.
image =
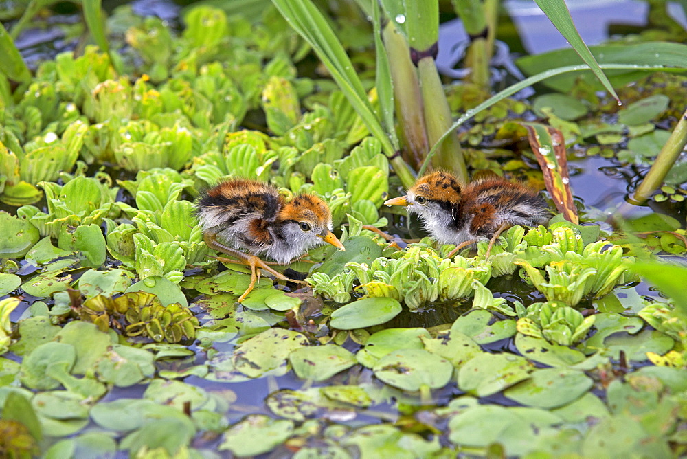
[[[488,256],[505,229],[544,224],[550,218],[545,201],[531,188],[502,177],[464,184],[440,171],[420,177],[405,196],[385,204],[406,206],[438,243],[457,245],[449,257],[479,240],[490,240]]]

